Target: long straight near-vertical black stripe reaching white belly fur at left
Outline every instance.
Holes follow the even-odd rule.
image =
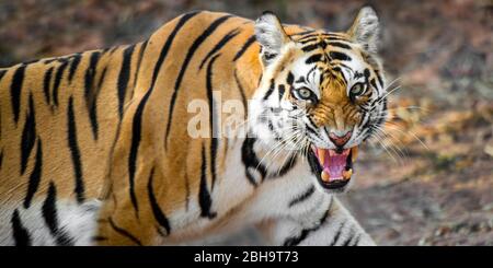
[[[73,191],[76,193],[77,201],[79,203],[81,203],[85,199],[84,182],[82,180],[82,164],[80,161],[79,144],[77,141],[77,126],[76,126],[76,116],[73,114],[72,96],[70,96],[69,103],[68,103],[67,121],[68,121],[67,141],[68,141],[68,145],[70,149],[70,154],[72,156],[73,175],[74,175],[74,183],[76,183]]]

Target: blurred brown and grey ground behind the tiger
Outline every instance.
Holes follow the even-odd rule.
[[[493,245],[493,1],[0,0],[0,67],[141,40],[191,10],[344,31],[382,24],[387,135],[365,145],[342,197],[380,245]],[[252,230],[210,244],[250,245]]]

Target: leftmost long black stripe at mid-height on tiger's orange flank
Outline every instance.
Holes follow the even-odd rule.
[[[21,175],[24,174],[27,167],[27,160],[30,158],[31,151],[34,148],[34,142],[36,140],[36,116],[34,114],[34,103],[33,95],[30,94],[30,109],[24,123],[24,128],[22,129],[21,139]]]

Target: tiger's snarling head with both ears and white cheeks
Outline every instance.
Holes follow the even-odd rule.
[[[271,12],[255,22],[263,74],[251,108],[253,131],[271,148],[306,156],[326,193],[347,188],[358,145],[387,118],[378,32],[371,8],[344,33],[288,35]]]

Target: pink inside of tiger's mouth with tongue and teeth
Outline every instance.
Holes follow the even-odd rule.
[[[349,156],[351,150],[355,150],[355,148],[346,149],[341,154],[330,149],[317,148],[314,150],[317,159],[322,166],[322,180],[333,182],[337,179],[348,179],[351,177],[353,171],[346,171],[347,158]]]

